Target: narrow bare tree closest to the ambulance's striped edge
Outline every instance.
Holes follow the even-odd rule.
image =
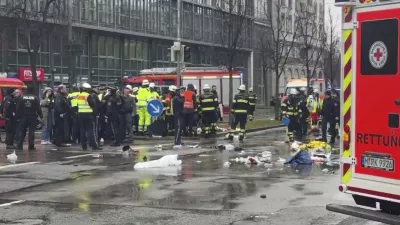
[[[333,88],[336,78],[340,75],[340,39],[336,33],[336,21],[333,21],[331,10],[328,11],[328,26],[325,35],[325,54],[323,55],[324,73],[327,84]]]

